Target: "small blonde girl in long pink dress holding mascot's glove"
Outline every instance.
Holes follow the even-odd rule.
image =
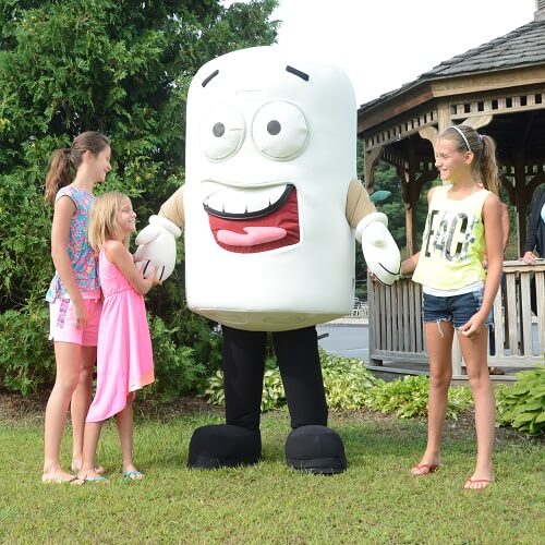
[[[132,460],[135,391],[154,382],[152,340],[144,296],[154,286],[155,270],[143,278],[130,254],[129,239],[136,228],[136,214],[122,193],[97,197],[89,219],[89,242],[99,251],[98,270],[104,293],[98,328],[97,389],[85,424],[83,464],[85,481],[106,481],[95,471],[95,456],[102,422],[116,415],[123,455],[123,475],[144,475]]]

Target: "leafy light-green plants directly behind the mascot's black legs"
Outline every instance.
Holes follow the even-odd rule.
[[[330,409],[360,409],[368,389],[379,383],[360,360],[340,358],[319,351],[327,404]],[[223,374],[217,371],[208,380],[203,396],[213,404],[222,404]],[[267,359],[263,378],[262,411],[286,405],[286,392],[274,358]]]

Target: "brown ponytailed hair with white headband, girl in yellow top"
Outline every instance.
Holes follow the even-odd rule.
[[[461,134],[460,134],[461,132]],[[474,160],[471,162],[473,175],[482,182],[485,190],[499,194],[499,172],[496,161],[496,143],[486,134],[479,134],[472,126],[449,126],[439,135],[439,138],[449,138],[458,144],[457,150],[461,154],[472,152]]]

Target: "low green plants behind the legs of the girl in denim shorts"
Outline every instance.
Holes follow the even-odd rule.
[[[401,419],[426,416],[428,388],[429,379],[426,376],[405,376],[391,383],[382,383],[370,390],[367,407],[383,413],[396,413]],[[458,413],[471,403],[469,388],[450,388],[447,417],[456,420]]]

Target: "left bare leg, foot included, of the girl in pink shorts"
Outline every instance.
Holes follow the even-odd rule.
[[[56,342],[57,376],[49,396],[45,416],[44,482],[69,482],[73,475],[62,471],[60,448],[66,424],[70,399],[76,388],[82,347],[72,342]]]

